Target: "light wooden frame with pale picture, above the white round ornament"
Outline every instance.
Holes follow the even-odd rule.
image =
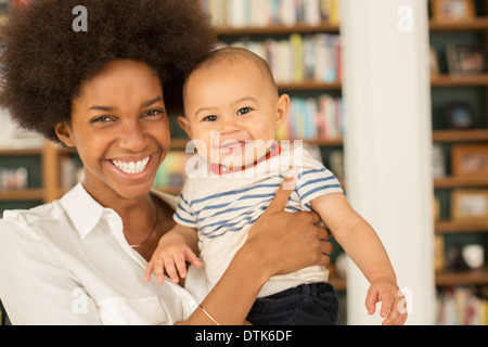
[[[488,221],[488,190],[452,191],[451,219],[455,221]]]

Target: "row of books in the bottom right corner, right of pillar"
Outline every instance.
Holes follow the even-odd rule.
[[[484,293],[485,292],[485,293]],[[487,287],[448,287],[437,294],[436,324],[488,325]]]

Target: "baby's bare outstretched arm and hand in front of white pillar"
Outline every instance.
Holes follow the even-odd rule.
[[[407,319],[400,307],[402,297],[395,270],[373,228],[347,202],[342,193],[322,195],[311,202],[335,240],[371,283],[365,300],[370,314],[382,301],[380,314],[384,324],[403,324]],[[401,312],[400,312],[401,311]]]

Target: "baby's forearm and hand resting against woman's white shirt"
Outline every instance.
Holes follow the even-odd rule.
[[[145,281],[151,279],[154,272],[157,282],[164,282],[164,270],[174,283],[179,282],[178,272],[184,279],[187,277],[187,261],[201,268],[198,260],[198,236],[193,228],[176,224],[159,239],[159,244],[145,269]]]

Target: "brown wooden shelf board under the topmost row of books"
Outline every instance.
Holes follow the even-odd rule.
[[[267,27],[219,27],[216,30],[217,36],[268,36],[268,35],[287,35],[294,33],[301,34],[313,34],[313,33],[330,33],[337,34],[339,27],[331,24],[320,24],[320,25],[272,25]]]

